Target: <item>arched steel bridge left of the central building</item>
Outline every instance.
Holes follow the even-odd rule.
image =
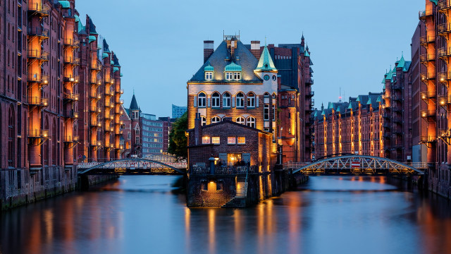
[[[106,174],[185,174],[186,162],[160,162],[154,159],[118,159],[109,162],[87,162],[78,164],[78,175]]]

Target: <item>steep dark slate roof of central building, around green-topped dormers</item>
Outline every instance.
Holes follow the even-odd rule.
[[[240,41],[237,41],[235,56],[240,56],[239,60],[235,57],[234,61],[242,68],[240,82],[261,83],[261,79],[254,73],[254,70],[257,67],[258,60]],[[212,66],[214,68],[214,80],[211,80],[211,82],[223,82],[226,79],[226,77],[224,76],[226,66],[232,62],[232,56],[230,56],[230,51],[227,49],[227,42],[223,41],[188,82],[204,82],[204,70],[206,66]]]

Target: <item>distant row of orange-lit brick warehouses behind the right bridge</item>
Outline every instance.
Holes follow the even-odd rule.
[[[316,158],[359,154],[383,156],[383,93],[329,102],[312,113]]]

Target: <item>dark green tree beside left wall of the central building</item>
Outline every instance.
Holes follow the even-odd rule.
[[[188,128],[188,112],[180,116],[172,125],[171,133],[169,133],[169,147],[168,152],[177,157],[186,158],[187,152],[187,138],[185,131]]]

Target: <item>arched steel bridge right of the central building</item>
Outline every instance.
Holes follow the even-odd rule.
[[[422,175],[426,165],[404,164],[393,159],[368,156],[368,155],[345,155],[321,159],[317,162],[307,164],[294,169],[293,174],[357,174],[357,175],[388,175],[409,174]]]

